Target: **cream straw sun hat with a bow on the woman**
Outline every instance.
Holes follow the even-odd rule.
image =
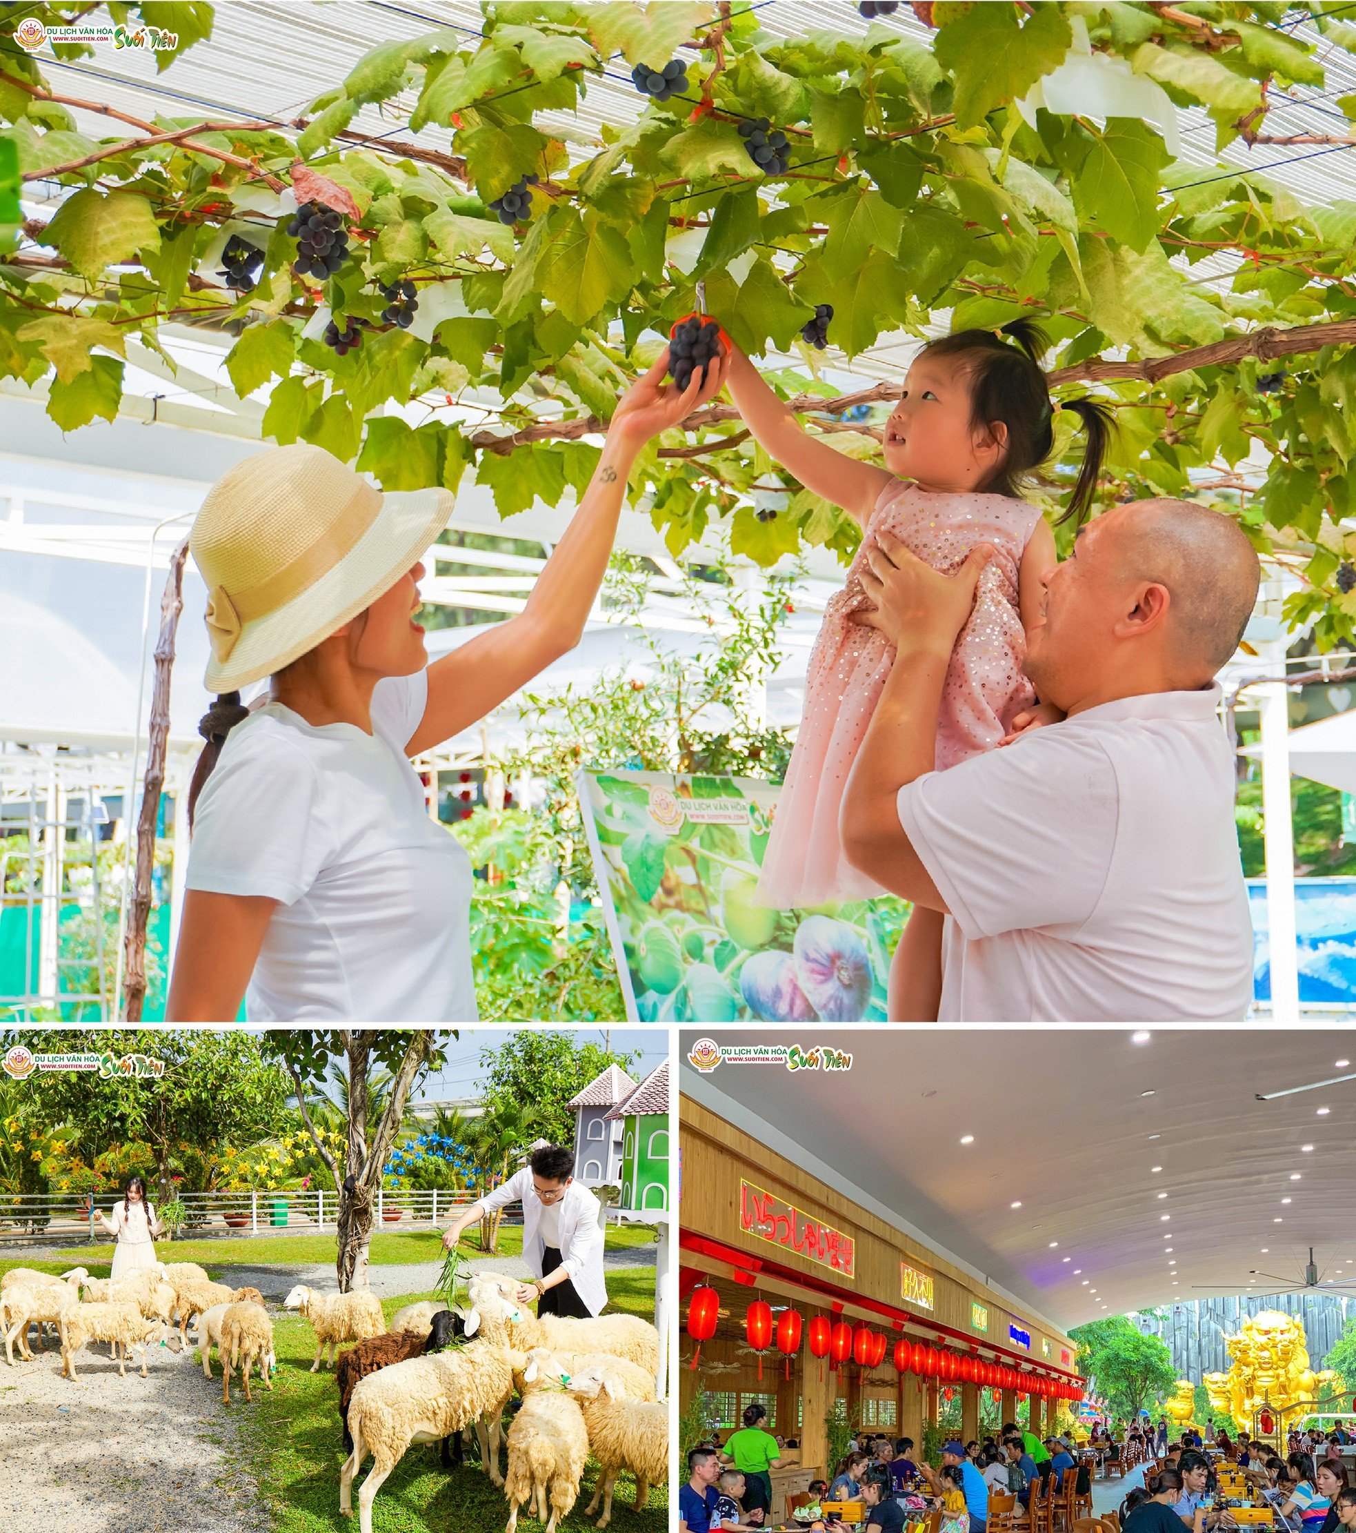
[[[389,590],[450,515],[446,489],[383,494],[302,442],[237,463],[188,537],[207,583],[207,690],[239,691],[314,648]]]

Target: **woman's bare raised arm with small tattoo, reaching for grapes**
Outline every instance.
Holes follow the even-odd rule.
[[[622,396],[588,489],[538,575],[524,610],[429,665],[429,701],[406,747],[411,756],[460,734],[575,648],[607,573],[636,454],[651,437],[680,425],[714,399],[725,379],[725,365],[726,359],[719,359],[706,368],[705,383],[694,374],[680,392],[674,383],[662,382],[668,369],[665,351]]]

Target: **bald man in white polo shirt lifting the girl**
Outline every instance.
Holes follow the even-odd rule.
[[[1256,601],[1252,544],[1189,501],[1097,517],[1046,572],[1028,632],[1027,676],[1066,717],[935,771],[947,665],[987,552],[947,576],[886,533],[864,575],[875,607],[857,621],[896,653],[847,782],[843,845],[947,917],[941,972],[896,964],[909,978],[892,984],[890,1018],[1241,1021],[1252,924],[1214,678]]]

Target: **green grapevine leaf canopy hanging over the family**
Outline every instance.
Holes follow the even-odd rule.
[[[173,14],[181,51],[211,28],[207,5],[109,8],[142,9]],[[159,346],[162,323],[227,328],[237,391],[270,389],[273,440],[319,442],[388,487],[455,489],[473,466],[509,514],[587,480],[588,435],[696,308],[697,281],[746,351],[797,354],[772,382],[812,429],[850,425],[826,417],[817,353],[798,340],[818,304],[850,354],[945,311],[958,328],[1028,314],[1054,339],[1059,391],[1091,382],[1115,409],[1103,504],[1214,497],[1305,581],[1290,618],[1316,619],[1324,645],[1356,639],[1356,592],[1335,579],[1356,552],[1339,526],[1356,510],[1356,204],[1305,208],[1261,170],[1183,164],[1158,127],[1172,103],[1207,113],[1220,149],[1266,146],[1270,101],[1330,90],[1356,28],[1319,0],[913,11],[924,38],[876,23],[777,40],[754,6],[499,0],[480,34],[377,43],[302,127],[195,132],[201,118],[175,117],[133,120],[130,140],[126,118],[100,138],[77,130],[66,77],[6,48],[0,143],[25,178],[69,193],[28,225],[41,248],[0,267],[0,374],[69,431],[116,414],[126,365]],[[25,8],[0,29],[87,12]],[[624,127],[572,115],[602,78],[625,84],[636,63],[674,55],[688,94],[637,98]],[[1042,104],[1056,69],[1083,78],[1080,110]],[[1140,92],[1140,117],[1096,115],[1112,77]],[[371,106],[391,124],[380,138],[352,126]],[[762,117],[789,141],[784,167],[765,172],[739,133]],[[519,184],[529,210],[506,224],[499,199]],[[342,213],[343,259],[323,279],[299,262],[290,192]],[[395,282],[417,293],[408,327]],[[362,328],[343,356],[322,339],[331,317]],[[475,426],[455,409],[469,388],[501,402]],[[420,425],[382,409],[414,399]],[[835,442],[879,451],[869,422]],[[1232,471],[1255,445],[1266,484],[1240,498]],[[1037,487],[1050,507],[1077,449],[1065,412]],[[784,492],[775,517],[754,517],[754,486]],[[630,491],[674,553],[714,523],[765,566],[855,540],[723,405],[648,451]]]

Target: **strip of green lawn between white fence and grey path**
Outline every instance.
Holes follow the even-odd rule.
[[[467,1231],[463,1251],[470,1257],[489,1256],[478,1248],[475,1229]],[[653,1245],[654,1233],[644,1225],[613,1225],[607,1231],[607,1243],[613,1251]],[[332,1234],[311,1236],[231,1236],[219,1240],[161,1240],[156,1246],[162,1262],[198,1262],[216,1275],[222,1266],[303,1266],[311,1262],[332,1265],[336,1237]],[[498,1256],[522,1254],[522,1228],[499,1231]],[[441,1234],[437,1229],[380,1229],[372,1236],[372,1266],[403,1265],[409,1262],[441,1262],[444,1256]],[[72,1266],[87,1266],[90,1272],[100,1263],[113,1260],[112,1242],[100,1245],[66,1246],[60,1251],[43,1248],[32,1259],[21,1257],[0,1262],[0,1274],[11,1266],[34,1266],[40,1272],[64,1272]],[[98,1275],[98,1274],[95,1274]]]

